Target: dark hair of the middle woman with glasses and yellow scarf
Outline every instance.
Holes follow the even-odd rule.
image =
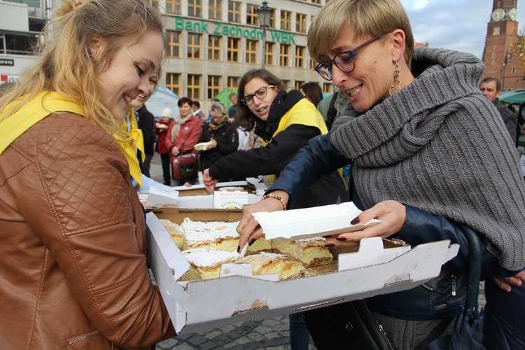
[[[237,90],[239,99],[244,97],[244,86],[253,78],[261,78],[265,80],[268,85],[275,85],[277,91],[283,90],[284,88],[281,79],[277,78],[273,73],[270,73],[266,69],[252,69],[246,72],[244,76],[242,76],[241,81],[239,81],[239,90]],[[244,128],[244,130],[252,130],[255,126],[255,118],[246,104],[242,102],[237,104],[237,116],[235,117],[235,124],[237,126]]]

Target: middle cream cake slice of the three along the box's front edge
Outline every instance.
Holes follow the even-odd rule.
[[[279,274],[279,280],[293,279],[302,276],[306,270],[304,266],[295,260],[290,260],[286,255],[261,252],[246,255],[237,262],[246,262],[251,265],[254,275]]]

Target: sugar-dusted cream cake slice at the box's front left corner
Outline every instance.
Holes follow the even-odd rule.
[[[181,277],[181,281],[197,281],[200,279],[216,279],[221,274],[221,265],[235,262],[239,258],[237,252],[219,251],[216,248],[190,248],[182,252],[190,262],[190,269]]]

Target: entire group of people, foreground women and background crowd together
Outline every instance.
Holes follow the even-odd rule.
[[[362,210],[352,224],[379,223],[325,237],[325,246],[365,237],[459,244],[435,279],[367,298],[397,349],[423,349],[452,332],[453,322],[435,329],[465,302],[460,224],[468,225],[484,243],[484,345],[524,349],[516,114],[498,102],[496,78],[479,81],[477,57],[414,48],[399,0],[331,0],[315,15],[308,50],[337,87],[332,96],[323,99],[318,83],[286,91],[274,73],[253,69],[230,108],[213,101],[208,116],[188,97],[160,120],[148,111],[168,41],[158,10],[143,0],[64,0],[45,30],[38,63],[20,83],[0,85],[6,348],[148,349],[176,335],[150,279],[137,196],[157,152],[163,186],[197,183],[197,172],[175,166],[185,157],[195,158],[209,192],[218,181],[267,176],[263,200],[244,209],[239,251],[263,235],[257,211],[347,200]],[[318,349],[351,349],[334,331],[342,310],[290,316],[292,348],[307,349],[311,335]]]

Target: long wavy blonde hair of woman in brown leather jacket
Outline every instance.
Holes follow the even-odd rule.
[[[162,34],[166,50],[167,35],[158,10],[143,0],[62,0],[41,36],[38,63],[1,97],[0,113],[15,99],[20,104],[13,113],[39,92],[56,91],[83,106],[90,122],[106,132],[118,132],[120,123],[100,101],[96,72],[107,69],[120,48],[136,43],[148,30]],[[89,49],[94,36],[107,43],[99,62],[94,62]]]

